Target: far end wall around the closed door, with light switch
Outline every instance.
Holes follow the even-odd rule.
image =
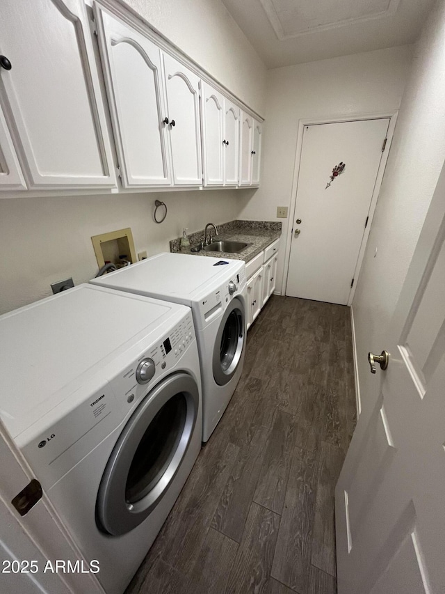
[[[277,206],[291,203],[298,121],[398,109],[410,70],[410,46],[276,68],[268,71],[261,187],[241,218],[282,221],[277,289],[281,288],[288,219]]]

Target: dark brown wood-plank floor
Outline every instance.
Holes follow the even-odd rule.
[[[127,594],[334,594],[355,426],[347,307],[272,296],[243,375]]]

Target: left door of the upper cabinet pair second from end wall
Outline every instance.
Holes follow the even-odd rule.
[[[223,107],[224,97],[202,82],[202,150],[204,185],[222,186],[223,174]],[[225,140],[224,140],[225,143]]]

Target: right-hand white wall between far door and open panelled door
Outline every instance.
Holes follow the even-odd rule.
[[[366,356],[387,348],[387,328],[444,164],[444,106],[445,2],[440,0],[414,49],[353,301],[363,412],[369,412],[380,384],[369,373]]]

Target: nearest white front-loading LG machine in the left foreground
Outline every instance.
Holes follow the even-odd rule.
[[[1,316],[0,334],[1,420],[122,594],[201,448],[191,309],[81,285]]]

